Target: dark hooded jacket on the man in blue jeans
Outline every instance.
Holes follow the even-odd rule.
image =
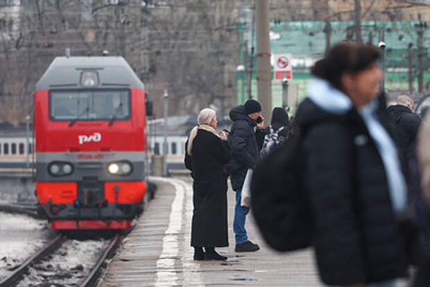
[[[246,114],[244,106],[236,106],[230,110],[233,121],[228,144],[232,150],[230,165],[233,190],[240,190],[245,181],[248,168],[252,168],[259,159],[261,145],[263,145],[264,131],[256,129],[257,123]]]

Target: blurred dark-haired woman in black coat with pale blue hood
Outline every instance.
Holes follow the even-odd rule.
[[[378,110],[378,58],[375,47],[337,44],[312,68],[296,114],[313,247],[330,286],[395,286],[407,276],[398,224],[406,184],[390,117]]]

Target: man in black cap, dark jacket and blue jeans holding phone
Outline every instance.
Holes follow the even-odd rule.
[[[257,251],[259,246],[248,240],[245,229],[246,215],[249,207],[241,206],[241,190],[246,172],[255,166],[259,159],[262,140],[264,139],[264,119],[261,117],[261,105],[250,99],[243,106],[230,110],[233,121],[228,143],[232,150],[231,181],[236,191],[236,206],[234,208],[233,230],[236,234],[236,252]],[[258,122],[258,124],[257,124]]]

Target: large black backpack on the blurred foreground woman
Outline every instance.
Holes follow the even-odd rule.
[[[252,174],[251,210],[270,247],[293,251],[311,245],[313,223],[302,180],[302,133],[259,161]]]

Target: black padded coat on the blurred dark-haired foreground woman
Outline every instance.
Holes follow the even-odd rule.
[[[377,116],[389,130],[388,114]],[[384,165],[360,115],[352,108],[334,117],[305,99],[297,120],[304,131],[304,185],[322,281],[347,285],[405,277],[404,240]]]

